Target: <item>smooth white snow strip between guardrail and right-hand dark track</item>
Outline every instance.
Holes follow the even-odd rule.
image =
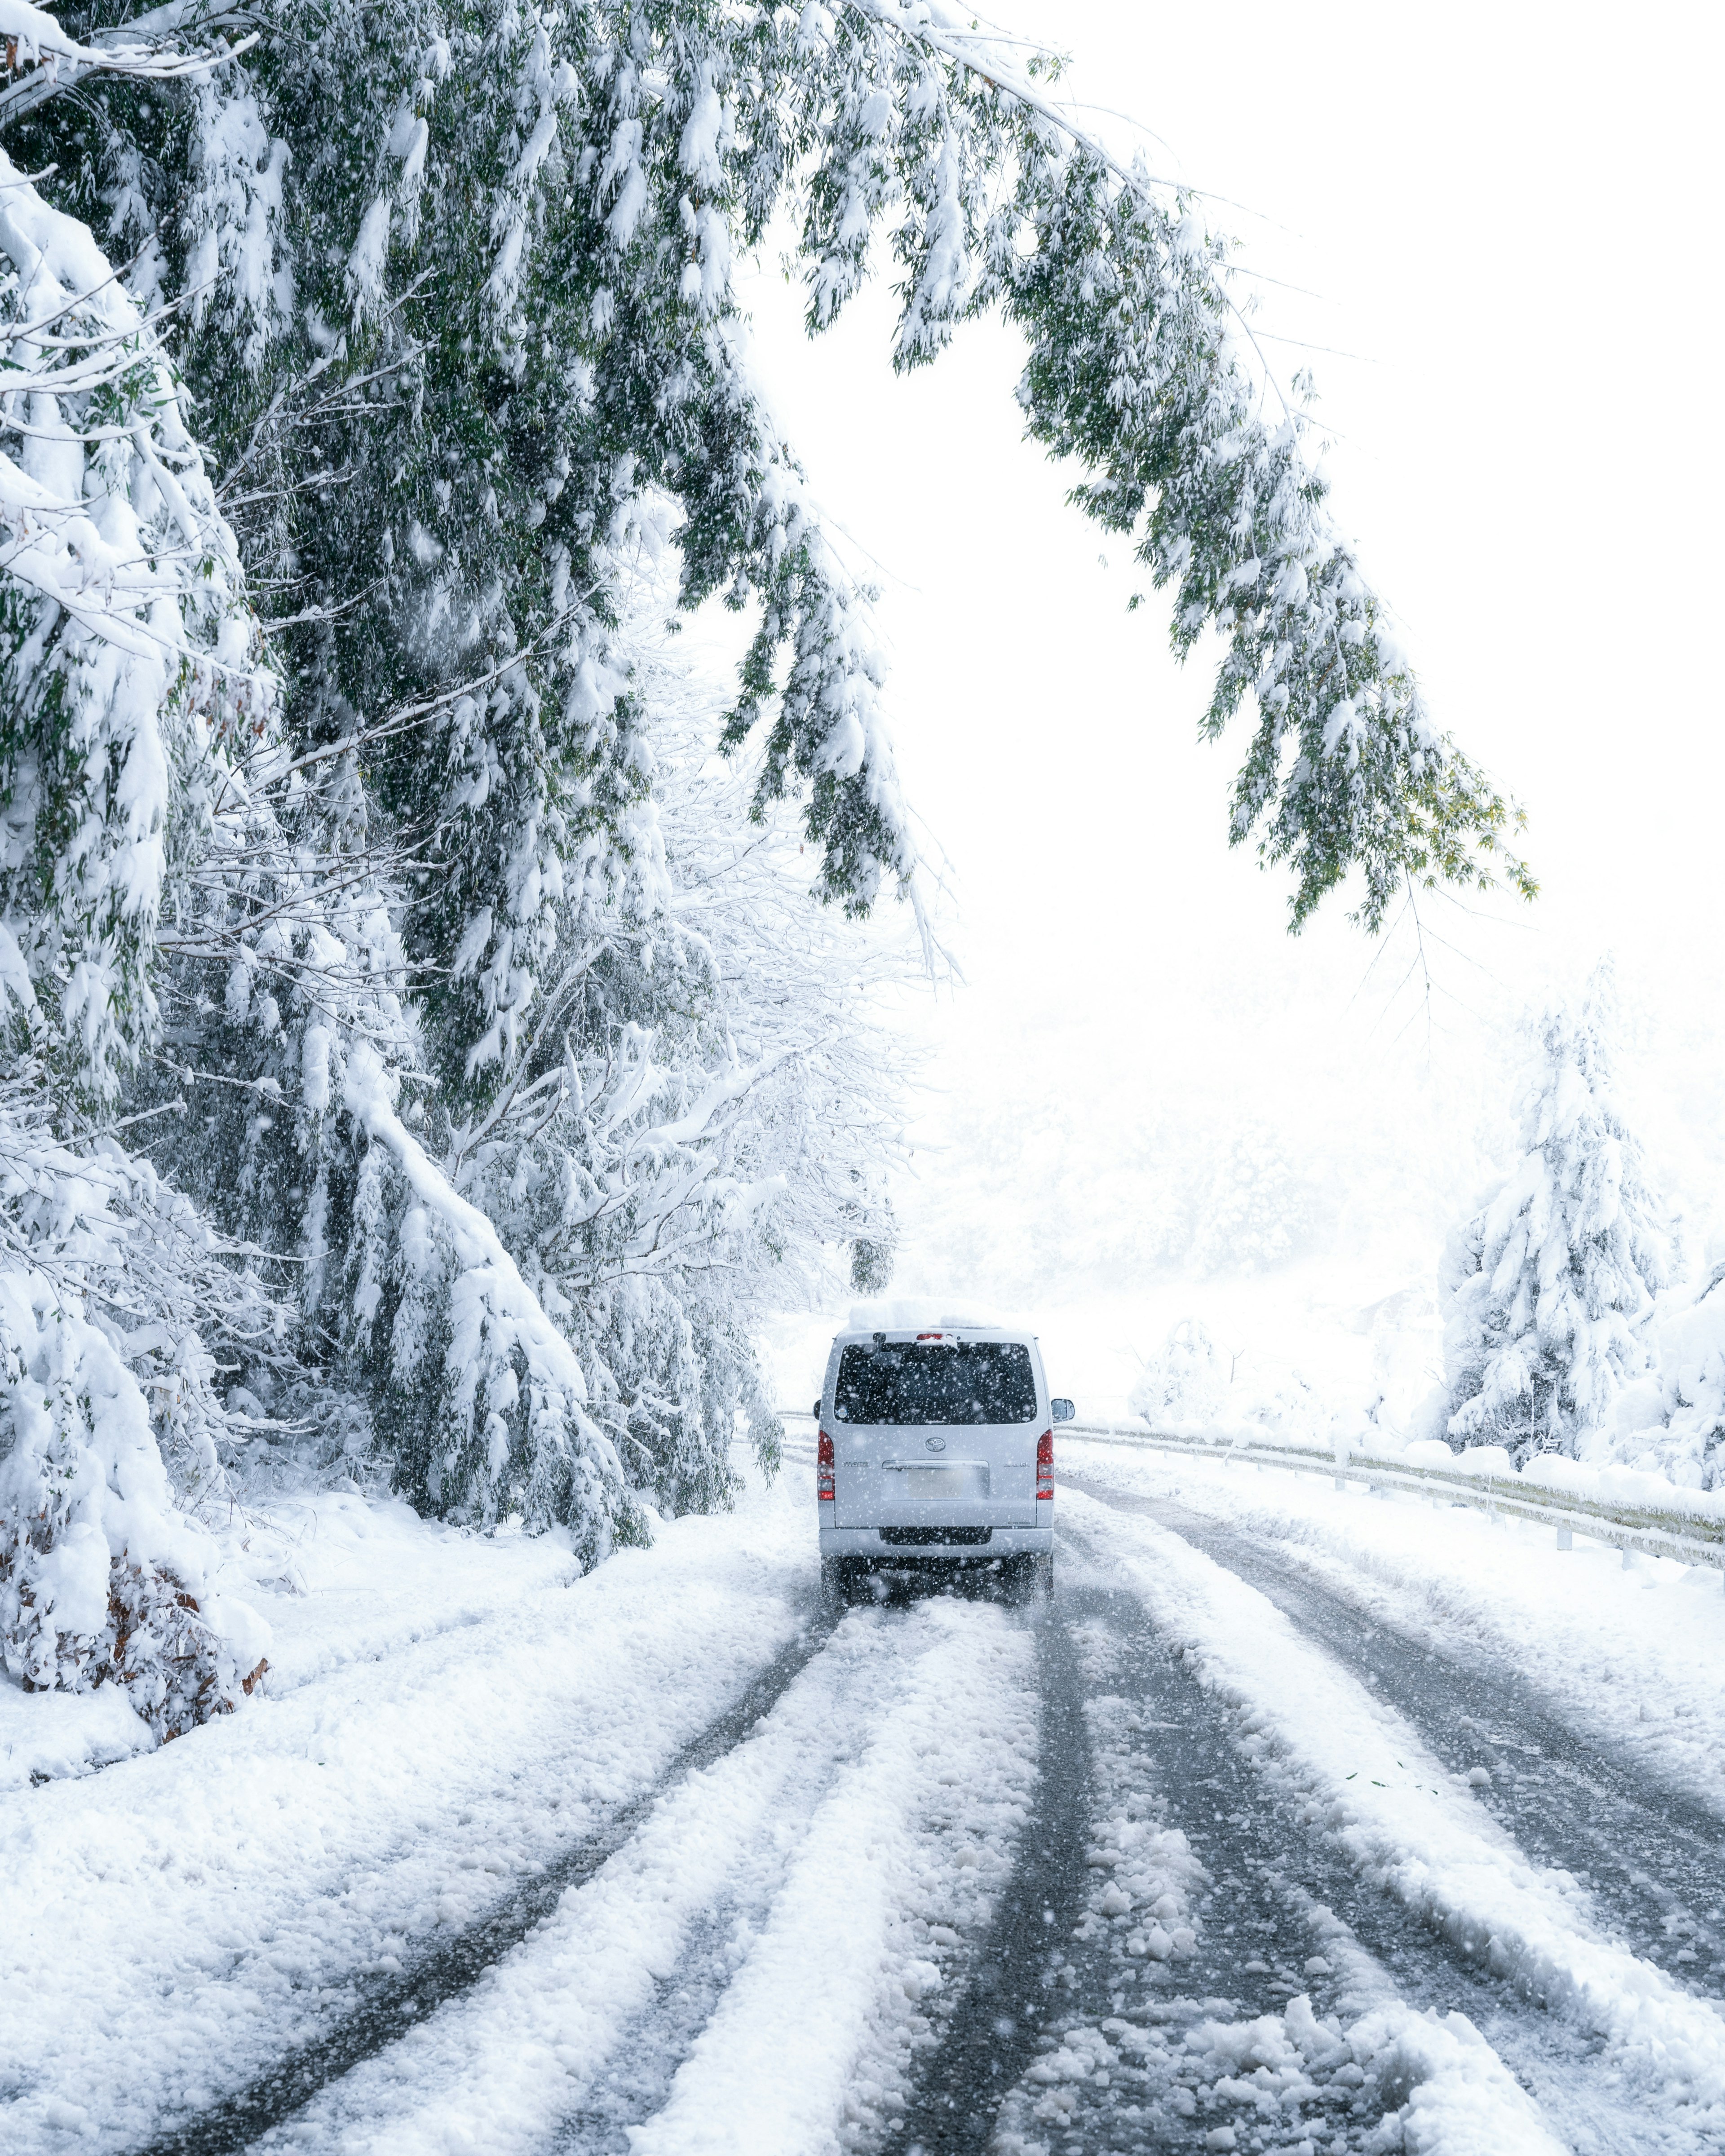
[[[1533,1522],[1335,1490],[1322,1475],[1229,1466],[1061,1436],[1098,1483],[1177,1496],[1419,1639],[1462,1639],[1540,1686],[1574,1727],[1725,1813],[1725,1593],[1712,1567],[1589,1542],[1557,1550]]]

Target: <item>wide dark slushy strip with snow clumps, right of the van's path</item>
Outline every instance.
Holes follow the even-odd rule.
[[[1089,1893],[1057,1953],[1061,2012],[1041,2055],[994,2137],[968,2147],[1341,2156],[1399,2147],[1417,2113],[1423,2139],[1408,2145],[1555,2156],[1509,2070],[1453,2014],[1492,1999],[1479,1973],[1443,1938],[1397,1932],[1391,1977],[1335,1912],[1356,1876],[1266,1787],[1136,1600],[1091,1574],[1067,1606],[1095,1761]]]

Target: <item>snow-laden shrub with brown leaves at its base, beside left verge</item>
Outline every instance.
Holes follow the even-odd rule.
[[[30,1690],[125,1686],[157,1738],[231,1710],[267,1630],[216,1595],[144,1395],[43,1274],[0,1268],[0,1660]]]

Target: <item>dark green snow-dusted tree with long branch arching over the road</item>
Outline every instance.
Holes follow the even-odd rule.
[[[78,19],[95,34],[104,9]],[[1236,334],[1225,244],[1082,136],[1046,65],[910,0],[319,0],[272,9],[213,93],[88,97],[95,132],[32,112],[41,151],[78,151],[166,287],[229,265],[188,364],[315,602],[313,703],[377,720],[487,675],[386,759],[401,806],[451,830],[425,934],[464,953],[440,994],[477,1067],[507,1063],[543,962],[558,830],[632,798],[608,563],[649,489],[677,505],[684,599],[761,608],[731,740],[765,722],[763,796],[806,787],[826,888],[869,903],[914,862],[858,593],[731,291],[783,213],[815,328],[878,235],[899,364],[977,310],[1020,323],[1033,436],[1175,586],[1177,647],[1220,632],[1208,729],[1257,705],[1231,834],[1296,865],[1296,921],[1354,867],[1371,923],[1408,877],[1524,882],[1330,524],[1302,405]]]

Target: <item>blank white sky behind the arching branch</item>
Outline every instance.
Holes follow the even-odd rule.
[[[1268,349],[1315,369],[1337,520],[1438,722],[1527,804],[1544,895],[1430,908],[1430,1024],[1395,994],[1406,931],[1365,985],[1343,906],[1289,940],[1285,880],[1225,845],[1238,742],[1195,742],[1203,655],[1171,664],[1156,599],[1126,614],[1126,550],[1020,440],[1016,341],[977,326],[897,382],[884,291],[811,347],[768,265],[746,287],[761,371],[875,565],[906,789],[955,871],[968,985],[921,1020],[903,1283],[1078,1302],[1093,1212],[1117,1328],[1145,1345],[1186,1289],[1134,1259],[1130,1222],[1182,1132],[1197,1158],[1233,1123],[1348,1184],[1339,1300],[1430,1276],[1501,1145],[1505,1020],[1604,949],[1645,1020],[1626,1091],[1706,1229],[1725,1210],[1716,11],[1018,0],[1011,22],[1076,54],[1070,95],[1162,138],[1158,170],[1246,205],[1212,205],[1246,265],[1317,295],[1264,285],[1259,330],[1333,347]],[[1119,1315],[1134,1298],[1143,1322]]]

